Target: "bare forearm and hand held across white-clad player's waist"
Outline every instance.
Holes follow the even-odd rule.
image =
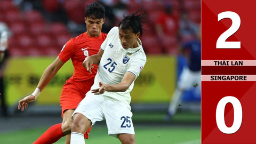
[[[135,76],[129,72],[125,73],[121,83],[119,84],[103,84],[102,82],[99,83],[100,88],[92,90],[94,94],[102,94],[105,91],[108,92],[125,92],[132,82],[134,81]]]

